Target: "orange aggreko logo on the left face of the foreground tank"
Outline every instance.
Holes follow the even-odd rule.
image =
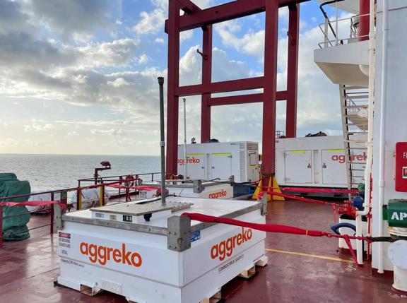
[[[81,249],[81,254],[89,257],[90,262],[98,262],[103,266],[110,260],[114,263],[123,263],[135,267],[140,267],[141,263],[143,263],[140,254],[126,251],[126,244],[124,243],[122,244],[122,249],[113,249],[112,247],[98,246],[85,242],[82,242],[79,248]]]

